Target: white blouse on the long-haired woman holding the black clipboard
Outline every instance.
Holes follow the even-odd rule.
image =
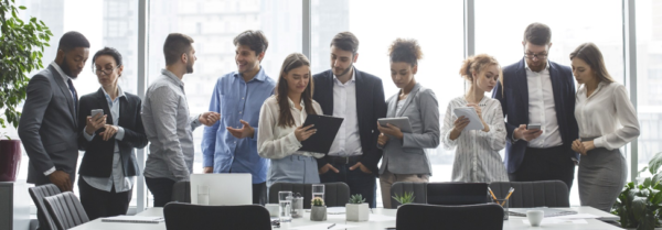
[[[257,153],[265,158],[282,158],[289,155],[305,155],[321,158],[324,154],[301,152],[301,142],[297,140],[295,130],[300,127],[308,117],[306,106],[301,100],[301,110],[299,111],[292,100],[289,98],[290,112],[295,119],[295,125],[282,128],[278,125],[278,117],[280,108],[276,96],[271,96],[265,100],[259,110],[259,127],[257,128]],[[312,101],[312,108],[318,114],[322,114],[322,108],[317,101]],[[313,128],[314,129],[314,128]],[[313,134],[314,135],[314,134]]]

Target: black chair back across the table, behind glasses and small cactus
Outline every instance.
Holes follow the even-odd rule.
[[[342,182],[324,184],[324,204],[327,207],[344,207],[350,201],[350,186]],[[303,196],[303,208],[310,208],[312,184],[276,183],[269,187],[269,202],[278,204],[278,191],[291,190]]]

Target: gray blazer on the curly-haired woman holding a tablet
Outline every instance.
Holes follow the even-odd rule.
[[[399,91],[398,91],[399,94]],[[430,161],[424,149],[439,146],[439,105],[431,89],[416,84],[403,109],[396,113],[398,94],[386,100],[387,118],[407,117],[412,123],[412,133],[404,133],[403,140],[391,138],[384,146],[384,156],[380,174],[384,171],[393,174],[431,175]]]

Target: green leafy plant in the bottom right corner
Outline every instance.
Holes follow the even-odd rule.
[[[653,230],[661,227],[662,212],[662,153],[649,162],[649,166],[639,171],[649,171],[652,177],[641,178],[643,183],[628,183],[613,204],[611,213],[620,217],[626,229]],[[638,176],[639,178],[639,176]]]

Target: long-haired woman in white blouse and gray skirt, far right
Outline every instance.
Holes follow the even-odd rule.
[[[575,102],[579,140],[573,142],[573,150],[581,154],[579,199],[581,206],[610,211],[628,175],[619,147],[639,136],[637,112],[626,87],[607,73],[595,44],[579,45],[570,61],[575,79],[584,85]]]

